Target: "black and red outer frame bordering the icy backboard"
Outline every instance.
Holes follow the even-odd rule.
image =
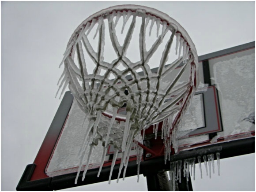
[[[199,62],[203,62],[203,75],[205,83],[211,85],[210,76],[207,70],[207,60],[220,57],[222,55],[229,55],[235,52],[245,51],[247,49],[255,48],[255,42],[239,45],[233,48],[228,48],[222,51],[210,53],[207,55],[199,56]],[[210,83],[209,83],[210,82]],[[87,171],[86,179],[81,181],[79,179],[78,183],[75,185],[75,177],[76,173],[72,174],[64,174],[60,176],[48,177],[45,174],[45,167],[47,166],[49,159],[51,159],[52,152],[55,148],[55,145],[60,137],[61,131],[65,125],[68,112],[73,102],[73,96],[70,92],[66,92],[62,102],[60,103],[60,107],[58,108],[55,117],[53,118],[53,122],[49,127],[49,131],[47,132],[45,139],[41,145],[40,150],[38,151],[38,155],[36,156],[33,164],[29,164],[26,166],[26,169],[21,177],[19,184],[16,190],[59,190],[64,188],[71,188],[80,185],[88,185],[92,183],[108,181],[109,179],[109,171],[110,166],[105,166],[102,168],[101,176],[97,177],[98,169],[92,169]],[[180,151],[177,155],[172,155],[170,160],[177,161],[181,159],[189,159],[193,157],[197,157],[199,155],[207,155],[209,153],[215,153],[221,150],[221,159],[245,155],[249,153],[255,152],[255,131],[251,133],[252,137],[231,140],[226,142],[223,139],[218,140],[219,142],[215,144],[211,144],[209,147],[201,146],[196,148],[191,148],[186,151]],[[214,133],[211,133],[210,139],[214,137]],[[197,158],[196,158],[197,163]],[[154,166],[152,166],[154,164]],[[141,162],[140,164],[140,174],[144,176],[148,174],[157,173],[159,170],[169,170],[169,161],[164,163],[163,156],[147,159]],[[149,169],[150,168],[150,169]],[[116,165],[113,170],[112,179],[117,179],[119,166]],[[80,177],[82,177],[83,172],[80,173]],[[126,177],[137,175],[137,165],[136,161],[132,161],[128,163],[128,169],[126,172]]]

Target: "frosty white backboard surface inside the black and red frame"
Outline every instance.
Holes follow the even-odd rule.
[[[210,146],[216,142],[253,137],[255,133],[254,46],[246,49],[242,47],[233,52],[222,50],[217,55],[216,53],[203,55],[199,57],[199,61],[201,86],[193,97],[191,107],[179,128],[179,151],[204,145]],[[203,65],[208,65],[208,73]],[[154,70],[157,69],[152,69],[153,72]],[[172,77],[168,78],[171,81]],[[211,85],[205,87],[207,78],[209,80],[207,83]],[[125,113],[125,108],[120,109],[119,113]],[[85,114],[74,101],[45,167],[45,173],[49,177],[77,172],[79,146],[83,143],[85,134],[80,130],[84,120]],[[94,150],[98,151],[98,154],[94,153],[89,169],[100,166],[102,145],[99,143]],[[136,154],[135,151],[136,149],[133,149],[132,157]],[[110,146],[104,166],[111,164],[112,154]],[[121,152],[118,153],[117,159],[121,156]],[[136,160],[136,157],[130,160]]]

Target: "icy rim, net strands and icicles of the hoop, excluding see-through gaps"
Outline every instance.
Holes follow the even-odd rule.
[[[117,10],[120,10],[122,6],[117,6],[116,8]],[[169,18],[169,16],[166,19],[160,20],[160,18],[155,15],[167,17],[167,15],[148,7],[127,5],[123,6],[122,11],[116,11],[114,8],[110,7],[86,19],[77,28],[77,30],[75,30],[68,43],[68,47],[64,53],[64,59],[60,64],[61,66],[62,63],[64,63],[65,66],[64,72],[59,80],[59,90],[63,87],[60,96],[64,93],[66,86],[69,86],[77,104],[82,111],[85,112],[87,121],[89,122],[89,125],[83,125],[86,136],[79,153],[80,164],[75,183],[77,183],[79,173],[83,167],[82,163],[84,158],[87,158],[82,178],[82,181],[84,180],[90,162],[90,157],[93,154],[95,146],[98,145],[98,141],[101,141],[104,147],[98,176],[102,170],[107,148],[110,144],[113,144],[115,151],[109,175],[109,183],[113,167],[117,159],[117,154],[120,151],[122,152],[122,159],[117,182],[123,168],[124,179],[129,160],[129,153],[134,145],[137,148],[139,178],[139,163],[141,161],[143,150],[139,147],[138,142],[143,144],[145,129],[151,125],[154,125],[154,133],[157,135],[158,123],[161,121],[164,122],[162,126],[162,139],[165,144],[165,159],[167,160],[170,158],[171,145],[173,145],[175,152],[178,151],[176,137],[177,127],[180,124],[182,116],[184,116],[184,112],[197,87],[197,85],[194,85],[194,78],[197,75],[197,54],[190,37],[175,20]],[[123,35],[125,36],[124,44],[120,45],[117,39],[115,27],[122,16],[123,25],[121,33],[123,33],[124,27],[128,19],[131,17],[132,22],[130,26],[128,26],[128,33],[126,36]],[[140,54],[140,57],[143,59],[140,63],[132,63],[128,58],[126,58],[126,51],[132,38],[137,17],[142,18],[142,24],[139,26],[141,29],[139,33],[139,48],[141,52],[138,54]],[[115,68],[117,59],[114,59],[112,63],[104,61],[105,19],[108,20],[109,35],[113,48],[117,53],[117,59],[122,58],[122,62],[127,64],[126,70],[121,71]],[[145,48],[146,43],[144,35],[150,21],[151,25],[149,28],[149,35],[151,35],[152,27],[156,24],[158,38],[152,45],[151,49],[147,51]],[[167,24],[166,21],[169,23]],[[162,33],[159,35],[160,25],[162,25]],[[94,26],[97,26],[94,38],[97,34],[99,37],[98,51],[95,51],[92,48],[87,37]],[[158,73],[153,74],[147,62],[156,52],[158,46],[162,44],[162,40],[168,32],[171,32],[171,35],[168,42],[166,42],[161,58],[159,58]],[[178,58],[173,63],[166,66],[168,54],[174,37],[176,37],[175,51]],[[87,64],[85,61],[88,58],[85,58],[83,49],[86,50],[88,55],[90,55],[90,59],[95,63],[96,67],[93,74],[88,74],[87,72]],[[78,64],[74,62],[75,52],[77,52]],[[182,56],[181,53],[183,54]],[[182,61],[184,65],[180,68],[177,76],[172,82],[168,82],[169,85],[165,87],[164,90],[161,89],[161,86],[166,85],[166,82],[163,82],[162,79],[169,75],[169,73]],[[191,65],[193,61],[195,64]],[[144,76],[136,74],[135,69],[138,67],[143,69]],[[188,82],[180,85],[178,82],[186,67],[191,68],[191,76]],[[100,75],[100,71],[102,69],[106,70],[104,75]],[[109,80],[110,71],[112,73],[116,73],[118,78]],[[128,81],[125,76],[131,73],[131,71],[133,73],[133,79]],[[143,80],[141,80],[141,78],[143,78]],[[144,86],[141,82],[145,81],[145,79],[147,80],[147,86]],[[117,85],[118,81],[121,81],[120,85]],[[156,81],[157,83],[155,83]],[[198,83],[198,81],[196,82]],[[188,93],[188,90],[191,88],[192,92]],[[113,89],[114,92],[111,92],[111,89]],[[124,94],[126,89],[128,89],[128,95]],[[137,90],[133,91],[133,89]],[[166,101],[170,96],[173,96],[172,100]],[[123,120],[116,121],[117,118],[120,118],[117,111],[124,103],[127,104],[127,114]],[[111,105],[110,110],[109,105]],[[177,117],[177,114],[180,116]],[[142,136],[141,132],[143,132]],[[88,155],[86,156],[86,154]]]

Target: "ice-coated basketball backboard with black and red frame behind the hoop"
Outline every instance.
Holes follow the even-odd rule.
[[[179,128],[179,152],[171,155],[170,161],[216,152],[221,158],[255,152],[255,42],[202,55],[198,60],[200,86]],[[119,113],[125,113],[125,107],[120,108]],[[33,164],[26,167],[17,190],[58,190],[109,179],[113,148],[109,147],[102,173],[97,177],[102,154],[98,145],[95,150],[100,155],[92,157],[85,180],[74,184],[79,146],[85,134],[80,130],[84,118],[71,92],[66,92],[38,155]],[[162,122],[158,130],[161,126]],[[159,142],[161,131],[157,136],[154,134],[156,127],[146,130],[140,174],[169,170],[170,162],[164,163],[163,144]],[[137,174],[136,148],[132,150],[127,177]],[[120,158],[121,151],[112,179],[117,178]]]

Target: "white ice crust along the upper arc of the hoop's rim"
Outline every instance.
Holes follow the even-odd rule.
[[[141,6],[141,5],[132,5],[132,4],[127,4],[127,5],[117,5],[117,6],[113,6],[113,7],[108,7],[106,9],[102,9],[101,11],[98,11],[97,13],[91,15],[90,17],[88,17],[87,19],[85,19],[74,31],[74,33],[72,34],[72,36],[70,37],[69,41],[68,41],[68,45],[67,45],[67,50],[70,47],[70,44],[72,43],[72,41],[74,39],[77,39],[79,36],[79,30],[82,30],[86,24],[88,22],[92,22],[93,19],[97,19],[99,17],[103,17],[106,18],[107,15],[111,15],[113,13],[113,11],[132,11],[132,12],[136,12],[139,10],[145,10],[146,11],[146,15],[151,15],[154,16],[156,18],[159,18],[161,20],[161,22],[166,22],[167,26],[173,26],[176,28],[176,33],[181,33],[181,37],[183,37],[183,39],[187,42],[191,52],[194,55],[194,59],[197,62],[197,52],[196,52],[196,47],[195,44],[193,43],[193,41],[191,40],[191,38],[189,37],[187,31],[173,18],[171,18],[169,15],[158,11],[157,9],[151,8],[151,7],[145,7],[145,6]],[[144,14],[144,12],[140,12],[141,14]],[[139,16],[139,15],[138,15]],[[73,45],[72,45],[73,47]],[[72,48],[71,51],[72,52]]]

